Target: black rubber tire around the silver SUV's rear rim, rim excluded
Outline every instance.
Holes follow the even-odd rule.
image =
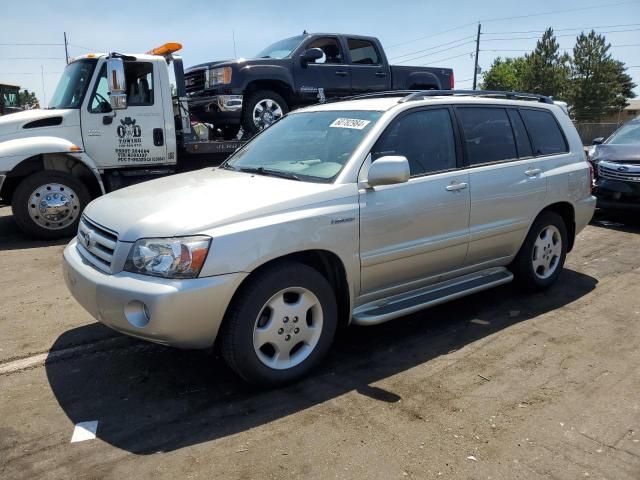
[[[561,253],[558,256],[557,264],[553,273],[547,278],[541,278],[540,275],[536,274],[534,269],[533,256],[535,242],[549,226],[555,227],[560,233],[562,242],[560,246]],[[527,234],[527,238],[522,244],[522,247],[520,247],[520,251],[510,267],[518,284],[529,291],[545,290],[553,285],[558,279],[560,272],[562,272],[564,261],[567,256],[568,242],[567,226],[565,225],[562,217],[555,212],[541,213],[533,222],[533,225]]]

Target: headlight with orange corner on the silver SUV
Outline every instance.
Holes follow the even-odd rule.
[[[195,278],[209,253],[211,238],[204,235],[143,238],[134,243],[124,264],[127,272],[164,278]]]

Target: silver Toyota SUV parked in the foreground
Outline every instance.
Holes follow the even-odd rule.
[[[504,94],[503,94],[504,95]],[[290,113],[219,168],[93,201],[65,280],[100,322],[218,341],[245,380],[305,375],[336,329],[517,280],[553,284],[595,199],[545,97],[415,92]]]

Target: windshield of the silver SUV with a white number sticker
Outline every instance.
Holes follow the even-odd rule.
[[[223,168],[310,182],[330,182],[382,112],[294,113],[274,123]]]

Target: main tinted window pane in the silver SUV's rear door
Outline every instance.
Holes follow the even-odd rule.
[[[456,115],[462,125],[470,165],[518,157],[511,123],[503,108],[460,107]]]

